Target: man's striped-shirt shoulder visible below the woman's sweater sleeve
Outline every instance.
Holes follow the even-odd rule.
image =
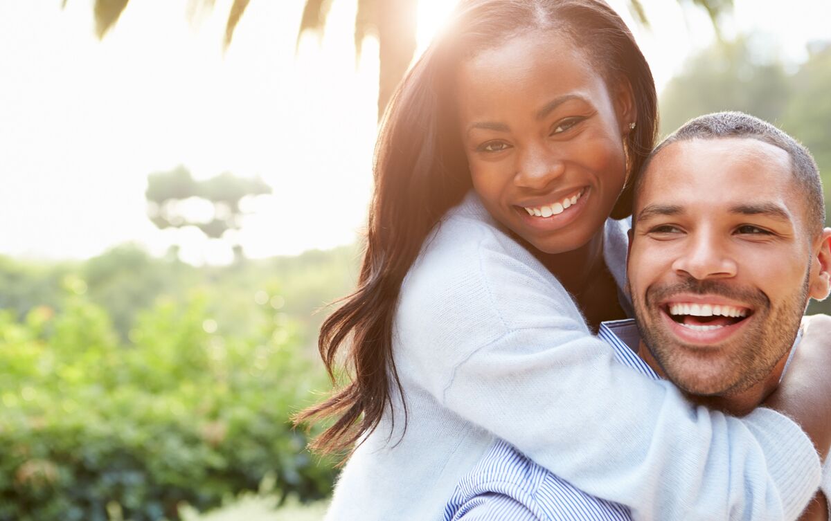
[[[626,507],[586,494],[503,440],[494,441],[475,468],[460,480],[445,508],[445,520],[465,519],[464,515],[456,514],[465,505],[475,504],[484,497],[512,499],[514,504],[542,521],[631,519]],[[490,504],[497,506],[499,501]]]

